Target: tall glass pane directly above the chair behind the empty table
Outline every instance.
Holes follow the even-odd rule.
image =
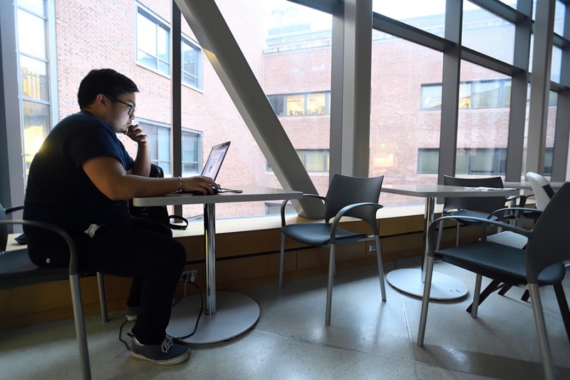
[[[480,101],[480,108],[462,108],[459,111],[457,149],[464,149],[466,154],[463,158],[460,157],[462,152],[457,152],[455,171],[457,174],[499,174],[502,163],[496,150],[507,148],[510,108],[496,106],[496,101],[510,78],[462,61],[460,80],[473,83],[474,99]]]

